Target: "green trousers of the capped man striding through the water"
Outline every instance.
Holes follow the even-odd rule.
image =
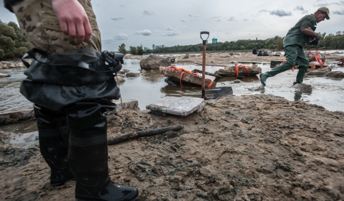
[[[284,55],[286,58],[286,62],[284,62],[283,64],[279,66],[274,67],[268,72],[262,73],[262,77],[266,79],[267,77],[275,76],[278,73],[284,72],[286,70],[291,69],[295,65],[298,65],[299,71],[296,75],[296,83],[302,83],[303,76],[309,67],[309,61],[303,49],[297,45],[285,46]]]

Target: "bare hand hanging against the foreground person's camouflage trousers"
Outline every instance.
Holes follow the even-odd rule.
[[[76,37],[78,43],[89,41],[91,25],[85,9],[77,0],[52,0],[52,8],[65,35]]]

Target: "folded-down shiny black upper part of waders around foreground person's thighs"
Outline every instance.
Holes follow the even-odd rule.
[[[24,62],[27,77],[20,91],[32,103],[53,111],[88,100],[119,99],[113,73],[122,68],[121,58],[109,54],[115,57],[92,49],[51,55],[33,49],[28,52],[33,57],[31,65]]]

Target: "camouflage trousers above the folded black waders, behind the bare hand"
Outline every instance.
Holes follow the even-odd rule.
[[[32,48],[43,50],[49,54],[54,52],[70,52],[75,49],[89,48],[101,51],[101,35],[93,13],[90,0],[78,0],[84,7],[92,36],[88,42],[77,43],[76,38],[65,35],[60,28],[51,0],[24,0],[12,5],[18,24]]]

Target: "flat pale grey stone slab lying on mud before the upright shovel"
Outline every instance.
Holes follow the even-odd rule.
[[[156,114],[187,116],[194,112],[200,112],[204,106],[204,98],[165,96],[157,102],[147,105],[146,109],[150,109]]]

